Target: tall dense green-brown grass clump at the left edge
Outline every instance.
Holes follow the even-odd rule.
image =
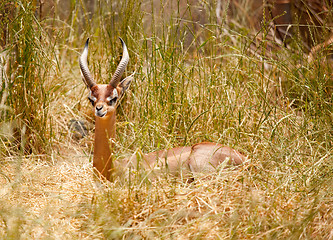
[[[50,85],[54,71],[52,43],[46,30],[36,18],[36,7],[29,1],[2,1],[0,8],[7,7],[2,34],[3,63],[6,77],[2,81],[0,98],[5,108],[1,122],[9,124],[12,136],[3,139],[5,154],[18,149],[24,153],[44,154],[52,145],[52,121],[49,103],[53,89]]]

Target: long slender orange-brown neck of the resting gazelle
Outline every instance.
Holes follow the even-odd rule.
[[[93,166],[97,174],[102,174],[107,180],[112,176],[112,148],[116,134],[116,113],[95,119],[95,142]]]

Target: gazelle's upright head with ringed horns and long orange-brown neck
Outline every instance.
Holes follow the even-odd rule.
[[[96,169],[96,174],[100,177],[104,176],[107,180],[111,180],[113,170],[112,139],[116,133],[117,103],[133,80],[133,75],[121,79],[129,61],[129,54],[125,42],[121,38],[119,39],[123,46],[123,55],[110,82],[107,84],[97,84],[89,71],[89,38],[79,57],[82,80],[90,90],[88,99],[96,116],[93,166]]]

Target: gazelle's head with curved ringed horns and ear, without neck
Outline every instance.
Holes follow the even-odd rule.
[[[120,81],[128,64],[129,55],[125,42],[121,38],[119,39],[123,45],[123,56],[109,84],[96,84],[88,69],[87,57],[89,38],[87,39],[84,50],[79,58],[82,79],[90,90],[88,99],[95,109],[96,117],[103,118],[114,113],[119,99],[133,80],[131,75]]]

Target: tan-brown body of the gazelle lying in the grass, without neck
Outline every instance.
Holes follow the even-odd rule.
[[[133,155],[129,162],[132,167],[142,166],[155,173],[162,170],[174,176],[192,178],[196,173],[214,172],[222,164],[240,165],[245,159],[243,154],[230,147],[202,142],[192,147],[176,147],[144,154],[139,165],[137,155]]]

